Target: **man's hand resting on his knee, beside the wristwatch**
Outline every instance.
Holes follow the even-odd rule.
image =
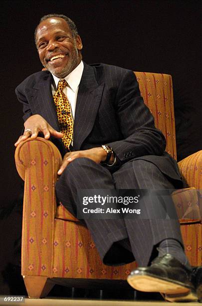
[[[64,155],[62,164],[57,172],[58,175],[62,174],[66,166],[75,158],[78,157],[86,157],[90,158],[93,161],[100,163],[101,161],[104,161],[107,157],[107,152],[102,147],[93,147],[88,150],[82,150],[82,151],[74,151],[74,152],[67,152]]]

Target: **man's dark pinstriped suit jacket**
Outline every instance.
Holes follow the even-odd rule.
[[[15,93],[23,104],[24,120],[32,114],[40,114],[59,131],[52,82],[49,71],[36,72],[22,81]],[[64,155],[66,149],[62,140],[53,137],[51,140]],[[84,63],[73,140],[73,150],[110,145],[116,153],[118,166],[134,159],[153,162],[175,182],[176,187],[182,186],[177,162],[164,152],[165,137],[155,127],[131,70],[103,63]]]

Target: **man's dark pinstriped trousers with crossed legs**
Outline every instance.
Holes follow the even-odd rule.
[[[106,167],[85,157],[70,162],[55,185],[58,200],[75,216],[79,189],[173,188],[175,185],[172,179],[166,177],[150,161],[131,160],[115,172],[110,172]],[[174,205],[172,200],[171,205]],[[164,239],[173,238],[183,245],[177,218],[84,219],[84,222],[90,230],[101,259],[109,265],[136,260],[138,265],[146,266],[152,260],[152,254],[155,254],[155,246]],[[118,246],[117,242],[123,239],[130,242],[132,253]]]

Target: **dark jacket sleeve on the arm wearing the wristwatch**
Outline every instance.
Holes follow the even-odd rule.
[[[162,155],[166,147],[163,133],[140,95],[133,71],[127,70],[117,90],[115,107],[122,140],[108,143],[118,160],[128,161],[144,155]]]

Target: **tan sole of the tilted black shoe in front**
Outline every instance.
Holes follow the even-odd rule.
[[[152,275],[129,275],[128,283],[136,290],[144,292],[162,292],[165,294],[189,293],[191,288],[181,282],[174,282]]]

